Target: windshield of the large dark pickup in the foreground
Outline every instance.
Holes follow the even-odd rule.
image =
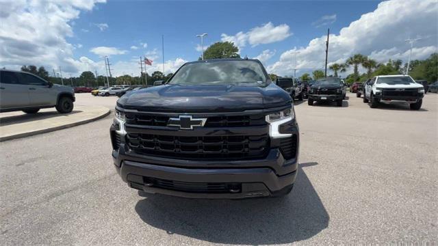
[[[169,81],[172,85],[266,85],[256,61],[211,61],[185,64]]]

